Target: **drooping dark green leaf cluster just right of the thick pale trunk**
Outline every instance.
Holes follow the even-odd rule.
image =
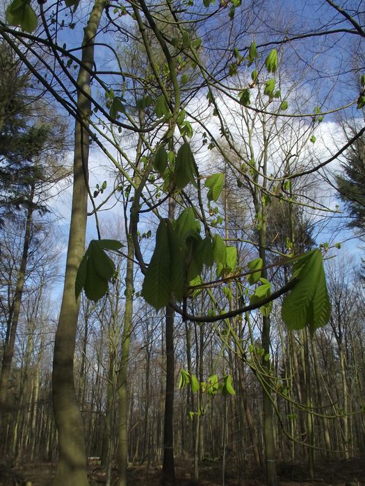
[[[106,294],[108,281],[115,274],[115,265],[104,250],[116,251],[121,246],[123,246],[122,243],[116,240],[90,241],[76,274],[76,299],[83,289],[88,299],[92,301],[98,301]]]

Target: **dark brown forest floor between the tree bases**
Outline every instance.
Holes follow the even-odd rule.
[[[193,470],[191,461],[176,462],[177,486],[193,484]],[[0,486],[51,486],[55,467],[49,463],[23,464],[16,468],[9,468],[0,464]],[[280,486],[365,486],[365,457],[350,460],[325,461],[316,464],[316,479],[308,477],[306,464],[300,462],[279,463],[278,476]],[[105,484],[105,474],[98,467],[90,467],[90,485]],[[204,462],[200,466],[199,486],[222,485],[222,464],[220,462]],[[238,486],[238,471],[236,464],[227,465],[225,486]],[[131,486],[159,486],[161,467],[134,467],[129,471]],[[112,485],[115,481],[112,481]],[[263,486],[265,478],[263,471],[251,469],[243,475],[239,486]],[[75,485],[76,486],[76,485]]]

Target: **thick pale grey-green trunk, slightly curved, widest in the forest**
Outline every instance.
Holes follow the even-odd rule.
[[[95,0],[88,24],[84,29],[82,65],[77,84],[83,92],[87,93],[90,92],[90,72],[94,62],[94,40],[104,6],[105,0]],[[80,306],[79,300],[75,299],[75,279],[85,251],[89,155],[89,137],[86,128],[88,128],[91,112],[90,100],[83,92],[79,91],[77,98],[78,115],[83,119],[83,126],[76,121],[70,235],[63,299],[54,343],[52,393],[60,452],[55,486],[88,486],[89,484],[83,421],[74,387],[74,349]]]

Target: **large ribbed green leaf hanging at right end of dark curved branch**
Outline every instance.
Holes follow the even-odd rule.
[[[321,251],[312,250],[295,262],[293,276],[299,282],[284,298],[282,318],[289,329],[308,326],[313,335],[327,324],[331,313]]]

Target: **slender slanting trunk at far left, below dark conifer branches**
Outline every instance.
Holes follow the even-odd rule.
[[[29,245],[31,244],[31,225],[33,220],[33,199],[35,192],[35,183],[31,185],[29,194],[29,206],[26,210],[26,223],[24,231],[24,242],[22,251],[22,260],[20,260],[19,273],[17,275],[17,285],[15,287],[15,294],[13,305],[10,308],[8,322],[6,325],[5,348],[3,351],[3,361],[1,363],[0,375],[0,416],[6,408],[6,396],[8,394],[8,383],[10,377],[11,363],[13,361],[15,338],[17,336],[17,326],[19,323],[20,305],[22,304],[22,296],[24,289],[24,281],[26,274],[26,264],[28,262]]]

